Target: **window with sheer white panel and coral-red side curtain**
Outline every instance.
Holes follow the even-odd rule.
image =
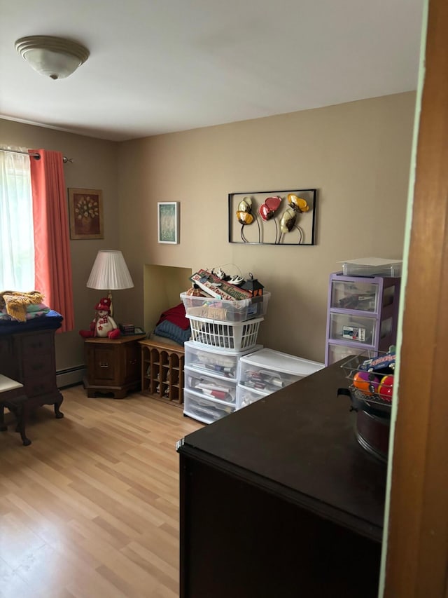
[[[1,149],[1,148],[0,148]],[[0,151],[0,291],[37,290],[73,330],[64,161],[60,151]],[[22,153],[17,153],[22,151]]]

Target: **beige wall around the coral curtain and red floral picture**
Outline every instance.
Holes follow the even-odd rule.
[[[0,144],[62,151],[73,158],[64,166],[67,187],[102,189],[104,197],[104,240],[71,240],[75,330],[56,335],[58,370],[82,365],[83,339],[78,329],[88,329],[94,306],[102,291],[87,289],[85,283],[99,249],[118,249],[117,144],[71,135],[48,128],[0,120]],[[67,225],[68,226],[68,225]],[[116,307],[118,308],[118,301]]]

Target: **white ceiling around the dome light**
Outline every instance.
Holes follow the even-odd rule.
[[[0,0],[0,116],[124,141],[416,89],[423,0]],[[67,79],[15,40],[90,50]]]

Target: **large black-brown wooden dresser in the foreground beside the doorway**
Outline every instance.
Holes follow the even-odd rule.
[[[376,598],[386,466],[340,362],[179,442],[181,598]]]

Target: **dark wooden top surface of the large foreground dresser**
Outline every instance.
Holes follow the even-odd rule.
[[[179,452],[381,542],[386,465],[356,440],[340,363],[187,435]]]

